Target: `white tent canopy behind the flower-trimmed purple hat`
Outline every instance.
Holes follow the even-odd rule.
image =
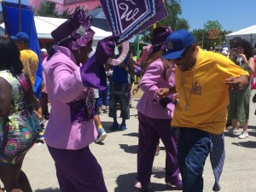
[[[41,17],[35,16],[35,25],[38,33],[39,39],[52,39],[50,33],[55,30],[58,26],[60,26],[67,19],[60,18],[52,18],[52,17]],[[0,25],[4,29],[4,23]],[[91,26],[91,29],[95,32],[94,35],[94,46],[96,46],[97,42],[102,38],[106,38],[112,35],[112,32],[107,32],[102,29],[96,28],[95,26]]]

